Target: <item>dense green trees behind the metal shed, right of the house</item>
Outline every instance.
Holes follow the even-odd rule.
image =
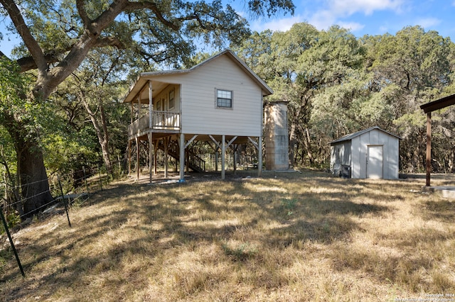
[[[290,162],[328,167],[328,142],[378,125],[402,137],[402,172],[422,172],[426,116],[420,105],[455,93],[455,47],[420,26],[396,35],[356,38],[332,26],[297,23],[286,32],[253,33],[235,47],[288,101]],[[434,114],[433,166],[455,171],[454,108]]]

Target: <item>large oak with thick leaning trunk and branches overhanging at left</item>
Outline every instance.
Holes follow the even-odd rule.
[[[245,2],[258,16],[294,10],[289,0]],[[134,47],[146,60],[178,65],[195,50],[194,40],[223,45],[249,34],[245,18],[216,0],[0,0],[0,5],[0,14],[11,18],[11,33],[23,42],[16,51],[21,72],[35,70],[33,85],[23,95],[34,104],[45,103],[97,47]],[[17,146],[18,173],[27,187],[24,208],[33,213],[52,199],[38,133],[19,116],[0,122]]]

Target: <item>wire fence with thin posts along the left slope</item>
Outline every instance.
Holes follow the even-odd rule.
[[[124,167],[122,161],[111,162],[111,169],[107,169],[104,164],[96,167],[87,166],[82,167],[80,171],[67,174],[55,173],[48,179],[28,182],[26,185],[14,185],[11,184],[11,180],[7,181],[6,177],[4,178],[4,182],[0,183],[0,218],[4,230],[0,233],[5,232],[8,235],[23,276],[25,273],[9,232],[11,225],[33,216],[66,213],[68,225],[71,227],[70,208],[87,203],[91,206],[90,195],[102,190],[110,181],[124,174]]]

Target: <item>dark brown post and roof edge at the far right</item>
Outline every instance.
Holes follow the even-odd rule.
[[[427,183],[425,186],[430,186],[432,173],[432,112],[452,105],[455,105],[455,94],[420,106],[424,113],[427,113],[427,159],[425,163]]]

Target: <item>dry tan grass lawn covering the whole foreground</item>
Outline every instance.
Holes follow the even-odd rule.
[[[1,237],[0,300],[432,301],[455,293],[455,202],[423,185],[117,182],[71,209],[72,228],[58,215],[14,230],[25,278]]]

